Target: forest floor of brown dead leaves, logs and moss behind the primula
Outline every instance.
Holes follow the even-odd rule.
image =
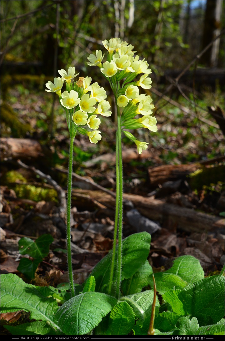
[[[51,137],[49,94],[17,85],[7,96],[13,115],[30,131],[18,131],[3,117],[1,138],[11,137],[17,148],[16,138],[21,137],[40,147],[33,155],[25,148],[19,157],[13,151],[1,157],[1,273],[24,279],[17,270],[21,257],[26,257],[19,253],[19,240],[51,234],[50,252],[30,283],[56,286],[68,281],[62,193],[67,190],[69,140],[64,112],[55,102]],[[170,268],[174,257],[187,254],[198,258],[206,276],[221,271],[224,264],[224,135],[206,111],[211,105],[224,109],[222,97],[209,92],[198,96],[199,107],[192,114],[161,100],[155,113],[158,133],[136,132],[149,143],[141,155],[123,139],[123,236],[151,234],[148,260],[154,271]],[[92,145],[78,135],[74,145],[71,240],[76,283],[83,283],[112,248],[115,124],[105,117],[101,121],[100,143]]]

